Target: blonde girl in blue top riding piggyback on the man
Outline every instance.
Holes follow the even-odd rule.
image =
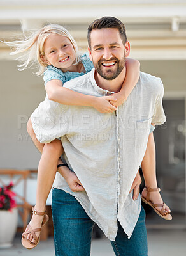
[[[38,61],[39,71],[36,74],[41,76],[44,73],[45,88],[47,91],[45,102],[41,102],[38,111],[40,113],[47,111],[50,115],[50,120],[52,120],[52,115],[55,115],[52,110],[58,108],[60,104],[94,107],[97,111],[103,113],[113,112],[117,110],[117,106],[120,106],[120,104],[127,100],[140,76],[140,63],[127,58],[126,77],[120,92],[104,97],[83,95],[64,88],[62,85],[66,81],[89,72],[92,70],[93,65],[86,54],[81,56],[78,53],[75,40],[62,26],[50,24],[39,29],[36,33],[32,33],[25,40],[8,42],[7,44],[16,48],[13,54],[25,52],[24,56],[18,58],[22,61],[22,65],[20,65],[22,70],[31,67],[36,60]],[[72,191],[84,190],[75,173],[71,172],[68,166],[62,163],[60,156],[64,151],[61,140],[50,138],[52,142],[45,145],[39,142],[42,142],[42,138],[39,137],[41,134],[39,134],[38,129],[34,129],[34,131],[32,129],[34,122],[34,127],[36,127],[35,117],[33,113],[27,124],[27,131],[42,155],[38,166],[36,205],[33,208],[32,219],[22,234],[22,244],[28,249],[34,248],[39,243],[41,228],[48,221],[45,204],[52,188],[57,168],[58,172],[66,179]],[[153,129],[152,127],[151,130],[153,131]],[[46,134],[47,132],[48,130],[46,128]],[[161,195],[157,189],[155,147],[152,133],[149,136],[147,151],[141,166],[143,168],[146,186],[142,192],[142,199],[150,204],[162,218],[171,220],[169,207],[166,207],[162,202]],[[155,189],[151,190],[151,188]],[[151,191],[157,193],[150,193]]]

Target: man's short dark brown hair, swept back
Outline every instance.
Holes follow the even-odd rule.
[[[100,19],[94,20],[94,22],[92,22],[89,25],[87,39],[88,39],[88,44],[90,49],[91,49],[91,41],[90,41],[91,31],[94,29],[102,29],[102,28],[117,28],[122,38],[123,44],[125,45],[125,42],[127,42],[127,35],[126,35],[125,26],[123,22],[121,22],[121,20],[115,17],[105,16]]]

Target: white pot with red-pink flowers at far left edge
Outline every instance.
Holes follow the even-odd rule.
[[[0,248],[9,248],[17,230],[18,211],[13,183],[0,187]]]

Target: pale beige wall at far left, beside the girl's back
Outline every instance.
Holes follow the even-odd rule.
[[[45,99],[43,78],[31,70],[19,72],[16,61],[1,61],[0,67],[0,168],[36,168],[40,156],[28,138],[26,121]]]

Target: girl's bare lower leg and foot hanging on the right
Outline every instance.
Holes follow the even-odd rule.
[[[147,150],[141,163],[141,168],[143,170],[145,186],[147,188],[157,188],[157,179],[155,172],[155,143],[153,132],[151,132],[149,135]],[[147,190],[145,188],[142,191],[142,196],[144,198],[146,198],[147,196]],[[162,204],[163,201],[159,191],[150,193],[150,201],[152,201],[154,204]],[[158,211],[160,211],[161,208],[162,207],[156,207]],[[166,207],[166,211],[170,212],[169,207]]]

